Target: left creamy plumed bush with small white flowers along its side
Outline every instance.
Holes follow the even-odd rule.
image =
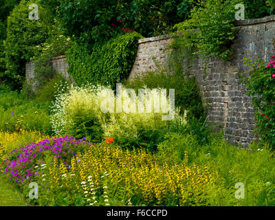
[[[87,137],[92,142],[102,141],[102,130],[98,118],[100,106],[96,92],[92,87],[63,87],[67,93],[56,96],[52,109],[51,122],[58,135],[73,135],[76,138]]]

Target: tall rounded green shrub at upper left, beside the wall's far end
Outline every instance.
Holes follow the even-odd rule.
[[[28,6],[31,3],[39,5],[38,21],[29,19]],[[23,0],[12,10],[4,42],[7,69],[4,78],[5,83],[12,85],[13,89],[21,89],[25,79],[25,63],[38,54],[36,46],[45,42],[52,24],[52,18],[37,0]]]

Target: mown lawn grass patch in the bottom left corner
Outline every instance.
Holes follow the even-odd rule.
[[[0,206],[28,206],[23,195],[0,177]]]

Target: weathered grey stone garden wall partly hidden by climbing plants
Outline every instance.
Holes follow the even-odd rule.
[[[247,146],[255,140],[254,109],[251,98],[245,95],[245,85],[241,82],[239,72],[248,74],[250,67],[243,64],[243,57],[270,61],[274,55],[272,38],[275,34],[275,17],[237,21],[238,36],[234,42],[234,57],[225,62],[221,58],[205,61],[199,56],[193,59],[191,76],[195,76],[201,89],[203,100],[209,104],[208,118],[219,124],[225,131],[225,139],[233,144]],[[135,63],[129,79],[157,69],[156,63],[164,65],[167,61],[166,46],[171,42],[170,36],[157,36],[140,39]],[[53,59],[54,68],[65,71],[65,57]],[[33,76],[32,63],[27,64],[27,77]]]

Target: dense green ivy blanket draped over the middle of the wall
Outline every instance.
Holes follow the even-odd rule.
[[[96,43],[89,54],[87,47],[75,44],[67,52],[68,73],[78,85],[111,85],[129,76],[137,52],[137,40],[142,36],[133,32],[104,43]]]

